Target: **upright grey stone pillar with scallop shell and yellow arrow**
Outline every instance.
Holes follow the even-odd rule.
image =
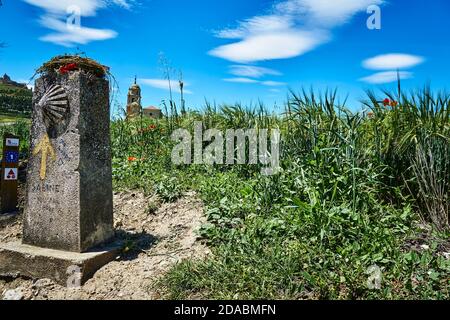
[[[24,244],[84,252],[113,237],[109,123],[108,81],[83,71],[36,80]]]

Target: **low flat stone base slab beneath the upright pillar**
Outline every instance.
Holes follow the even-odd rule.
[[[0,244],[0,275],[21,275],[32,279],[52,279],[66,286],[75,268],[83,285],[95,272],[114,260],[120,243],[86,253],[66,252],[13,242]],[[77,272],[78,272],[77,271]]]

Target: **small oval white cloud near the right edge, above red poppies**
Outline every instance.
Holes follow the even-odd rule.
[[[382,54],[363,61],[363,67],[372,70],[408,69],[423,63],[420,56],[404,53]]]

